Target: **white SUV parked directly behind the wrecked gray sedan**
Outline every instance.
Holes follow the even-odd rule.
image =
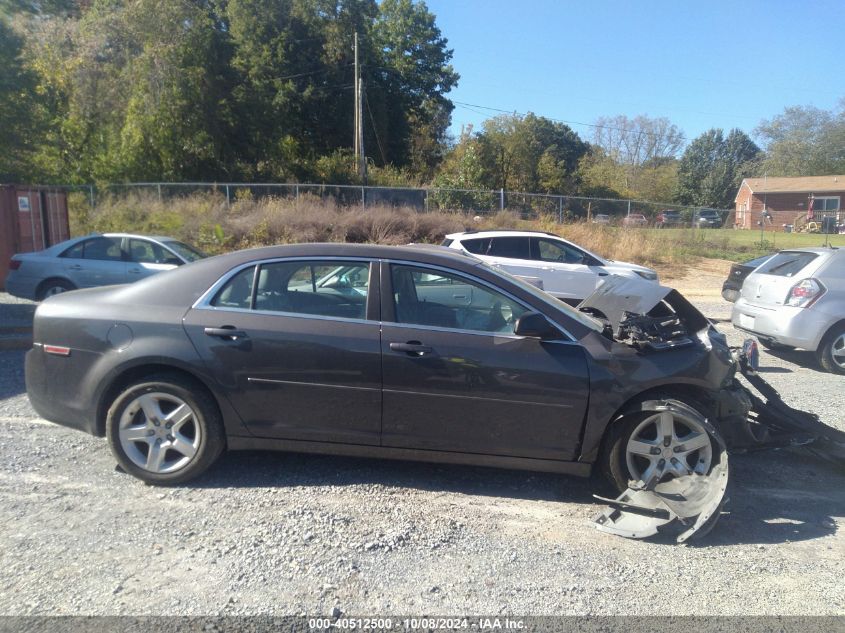
[[[571,304],[610,275],[657,281],[651,268],[604,259],[553,233],[468,231],[447,235],[442,245],[471,253]]]

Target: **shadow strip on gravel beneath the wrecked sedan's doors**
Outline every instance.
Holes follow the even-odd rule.
[[[195,488],[386,486],[536,501],[597,503],[593,479],[552,473],[363,457],[244,451],[226,454]]]

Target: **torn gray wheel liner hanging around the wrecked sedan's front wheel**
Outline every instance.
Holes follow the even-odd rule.
[[[643,403],[654,411],[672,409],[680,403]],[[648,538],[658,532],[673,532],[678,543],[700,538],[710,532],[722,513],[728,487],[728,451],[725,441],[704,417],[683,407],[686,415],[694,414],[718,446],[718,461],[707,475],[690,474],[659,482],[663,473],[650,481],[632,481],[616,499],[596,497],[608,506],[593,523],[602,532],[625,538]],[[714,455],[716,457],[716,455]],[[658,483],[659,482],[659,483]]]

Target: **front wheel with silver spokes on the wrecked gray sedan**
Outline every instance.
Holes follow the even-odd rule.
[[[692,407],[697,412],[700,409]],[[695,413],[694,411],[693,413]],[[713,438],[705,419],[680,408],[630,414],[614,424],[604,450],[604,470],[622,492],[630,481],[653,483],[690,474],[706,475],[714,465]]]

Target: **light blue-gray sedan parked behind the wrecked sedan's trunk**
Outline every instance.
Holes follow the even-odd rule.
[[[14,255],[6,292],[41,301],[60,292],[125,284],[205,257],[170,237],[92,234],[43,251]]]

